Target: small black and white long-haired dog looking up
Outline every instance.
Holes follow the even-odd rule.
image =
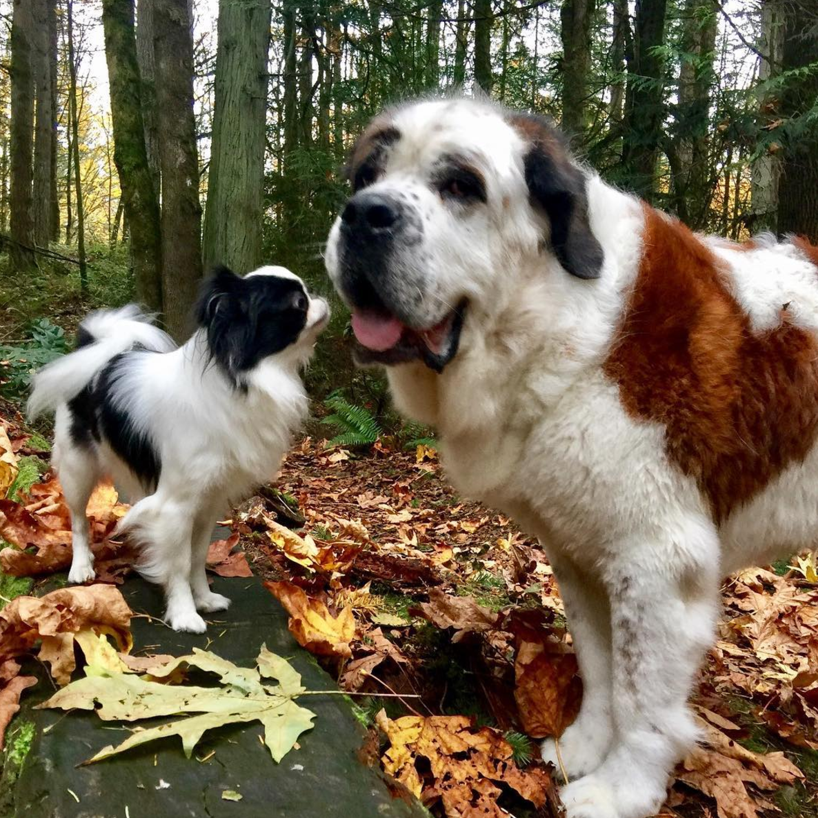
[[[199,611],[226,609],[209,590],[213,525],[272,479],[308,411],[299,368],[329,320],[284,267],[244,278],[219,269],[196,309],[199,329],[177,348],[129,305],[89,315],[74,353],[34,378],[29,415],[56,411],[52,462],[71,512],[69,582],[94,578],[85,509],[110,476],[133,507],[117,533],[140,546],[140,573],[164,586],[166,621],[205,631]]]

